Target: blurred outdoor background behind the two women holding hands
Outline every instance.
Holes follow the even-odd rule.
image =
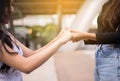
[[[97,16],[107,0],[15,0],[6,27],[30,49],[50,42],[63,28],[96,32]],[[24,81],[93,81],[96,45],[68,42]]]

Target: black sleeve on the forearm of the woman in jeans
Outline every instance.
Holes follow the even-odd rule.
[[[120,44],[120,32],[96,33],[96,40],[87,40],[85,44]]]

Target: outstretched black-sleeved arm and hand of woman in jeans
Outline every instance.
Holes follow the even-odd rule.
[[[70,30],[73,33],[73,42],[85,40],[86,44],[120,44],[120,32],[87,33]]]

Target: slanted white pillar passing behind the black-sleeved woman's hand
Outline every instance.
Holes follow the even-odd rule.
[[[102,5],[106,1],[107,0],[87,0],[76,14],[76,18],[73,21],[71,28],[78,31],[87,32],[93,22],[93,19],[101,11]],[[83,41],[79,41],[74,44],[69,42],[61,47],[60,50],[75,50],[78,46],[84,46]]]

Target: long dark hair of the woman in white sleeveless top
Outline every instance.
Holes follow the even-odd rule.
[[[17,54],[16,52],[10,52],[5,46],[6,44],[10,48],[13,48],[13,45],[12,45],[13,41],[10,38],[10,35],[8,34],[7,30],[5,29],[5,25],[4,25],[5,7],[10,8],[10,2],[11,0],[0,0],[0,40],[6,52],[8,52],[9,54]],[[2,51],[1,47],[0,47],[0,51]],[[0,72],[7,72],[9,69],[10,69],[10,66],[3,63],[3,65],[0,67]]]

